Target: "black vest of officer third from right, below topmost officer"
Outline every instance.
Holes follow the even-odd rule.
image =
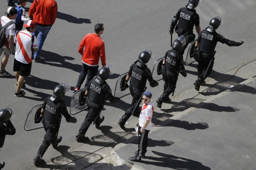
[[[177,56],[172,55],[171,51],[167,53],[166,62],[164,64],[166,71],[172,72],[173,74],[177,74],[179,68],[179,54]]]

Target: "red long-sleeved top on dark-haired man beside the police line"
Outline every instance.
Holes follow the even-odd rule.
[[[91,66],[99,65],[100,58],[102,65],[106,65],[105,44],[99,35],[94,33],[87,34],[79,44],[78,52],[82,53],[83,51],[82,62],[84,64]]]

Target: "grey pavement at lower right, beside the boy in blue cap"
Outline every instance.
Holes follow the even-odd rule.
[[[134,164],[146,170],[255,170],[255,94],[251,78],[161,122],[148,135],[145,159]],[[125,161],[137,149],[136,140],[115,147]]]

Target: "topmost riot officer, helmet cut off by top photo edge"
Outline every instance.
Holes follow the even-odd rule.
[[[183,47],[182,54],[184,53],[189,43],[195,40],[195,34],[193,34],[194,25],[198,34],[201,31],[199,26],[199,15],[195,10],[195,8],[198,6],[198,3],[199,0],[189,0],[189,3],[186,5],[186,7],[180,8],[179,11],[177,11],[177,14],[174,16],[171,22],[169,30],[170,34],[173,34],[175,29],[178,37],[181,35],[186,37],[186,45]]]

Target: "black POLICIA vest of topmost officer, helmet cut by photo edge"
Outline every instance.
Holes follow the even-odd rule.
[[[194,12],[189,11],[186,7],[181,8],[178,27],[183,29],[184,33],[188,31],[193,31],[195,24],[193,15]]]

